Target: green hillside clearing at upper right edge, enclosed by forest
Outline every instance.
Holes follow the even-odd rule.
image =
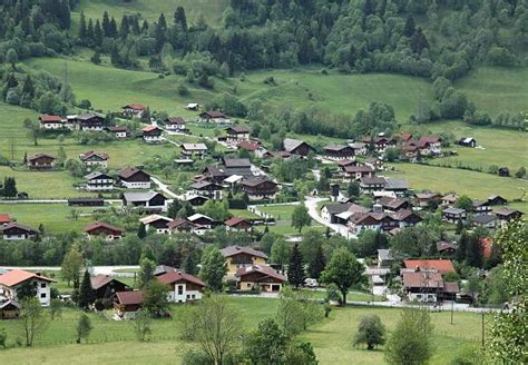
[[[460,79],[454,87],[466,92],[477,110],[496,117],[508,111],[510,115],[527,112],[528,68],[480,67]]]

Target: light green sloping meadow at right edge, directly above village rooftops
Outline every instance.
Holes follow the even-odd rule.
[[[528,189],[528,180],[498,177],[496,175],[443,168],[417,164],[397,164],[397,171],[389,172],[393,177],[404,177],[412,189],[429,189],[438,193],[456,191],[472,198],[487,199],[490,195],[501,195],[507,199],[516,199]],[[517,205],[528,211],[528,203]]]

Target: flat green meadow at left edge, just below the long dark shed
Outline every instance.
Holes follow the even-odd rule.
[[[17,221],[38,227],[40,224],[48,233],[82,231],[91,223],[90,214],[102,207],[69,207],[66,204],[1,204],[0,213],[8,213]],[[77,220],[71,218],[71,210],[79,213]],[[104,208],[102,208],[104,209]]]

